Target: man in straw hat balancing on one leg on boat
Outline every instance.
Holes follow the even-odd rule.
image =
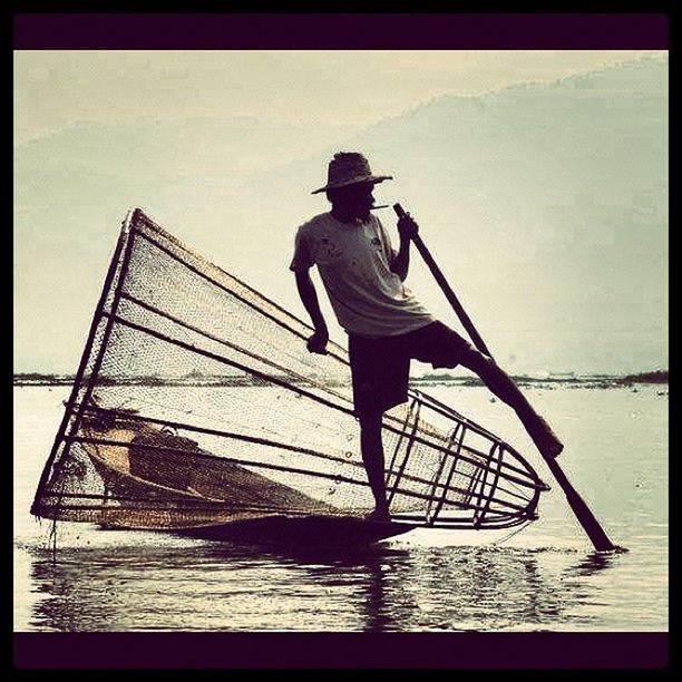
[[[367,158],[355,152],[335,154],[328,182],[313,194],[327,193],[331,211],[301,225],[290,270],[301,301],[315,329],[308,350],[325,353],[327,323],[310,279],[318,266],[339,324],[349,337],[354,412],[360,447],[376,509],[369,518],[390,518],[386,484],[382,415],[408,400],[410,360],[433,368],[465,367],[480,377],[495,396],[523,421],[538,450],[556,457],[563,445],[535,412],[509,377],[488,355],[436,320],[403,282],[411,237],[418,225],[409,214],[398,221],[396,251],[379,218],[371,213],[374,185],[390,175],[373,175]]]

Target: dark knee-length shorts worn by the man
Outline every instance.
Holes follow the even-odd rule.
[[[367,339],[349,333],[355,416],[384,412],[408,399],[410,360],[454,368],[474,347],[442,322],[398,337]]]

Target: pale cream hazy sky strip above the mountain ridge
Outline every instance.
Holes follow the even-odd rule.
[[[14,137],[76,120],[246,115],[368,125],[442,94],[553,80],[636,51],[17,51]]]

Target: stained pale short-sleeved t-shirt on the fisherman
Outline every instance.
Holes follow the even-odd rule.
[[[390,271],[396,255],[390,238],[370,214],[364,223],[341,223],[331,213],[299,227],[292,271],[318,266],[339,324],[361,337],[393,337],[435,321]]]

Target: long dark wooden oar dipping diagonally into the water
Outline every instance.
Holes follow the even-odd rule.
[[[393,204],[393,210],[396,211],[399,217],[402,217],[403,215],[406,215],[406,212],[400,204]],[[480,338],[479,333],[476,331],[476,328],[474,327],[474,323],[471,322],[469,315],[466,313],[461,303],[457,300],[455,292],[448,284],[442,272],[440,272],[440,269],[436,264],[436,261],[429,253],[429,250],[426,247],[426,244],[422,242],[419,234],[412,235],[412,242],[415,242],[415,246],[417,246],[417,250],[421,254],[421,257],[425,260],[426,264],[429,266],[431,274],[433,275],[433,277],[436,277],[436,281],[440,285],[440,289],[442,290],[442,293],[446,295],[450,305],[455,309],[457,316],[461,321],[464,328],[467,330],[467,333],[471,338],[471,341],[474,341],[474,344],[476,345],[476,348],[483,353],[486,353],[486,355],[489,355],[491,358],[493,354],[488,350],[484,340]],[[600,525],[600,522],[596,519],[594,514],[591,512],[585,500],[578,495],[577,490],[571,485],[571,483],[566,478],[566,475],[564,474],[562,468],[556,462],[556,459],[554,459],[553,457],[545,457],[544,454],[543,454],[543,458],[547,462],[547,466],[549,467],[549,470],[552,471],[554,478],[556,479],[558,485],[562,487],[562,490],[564,490],[564,495],[566,496],[566,499],[568,500],[568,505],[573,509],[573,513],[578,519],[581,526],[583,526],[583,529],[585,530],[585,533],[592,540],[594,548],[597,552],[610,552],[610,551],[616,549],[616,546],[608,539],[608,537],[606,536],[606,533],[604,533],[604,529]]]

